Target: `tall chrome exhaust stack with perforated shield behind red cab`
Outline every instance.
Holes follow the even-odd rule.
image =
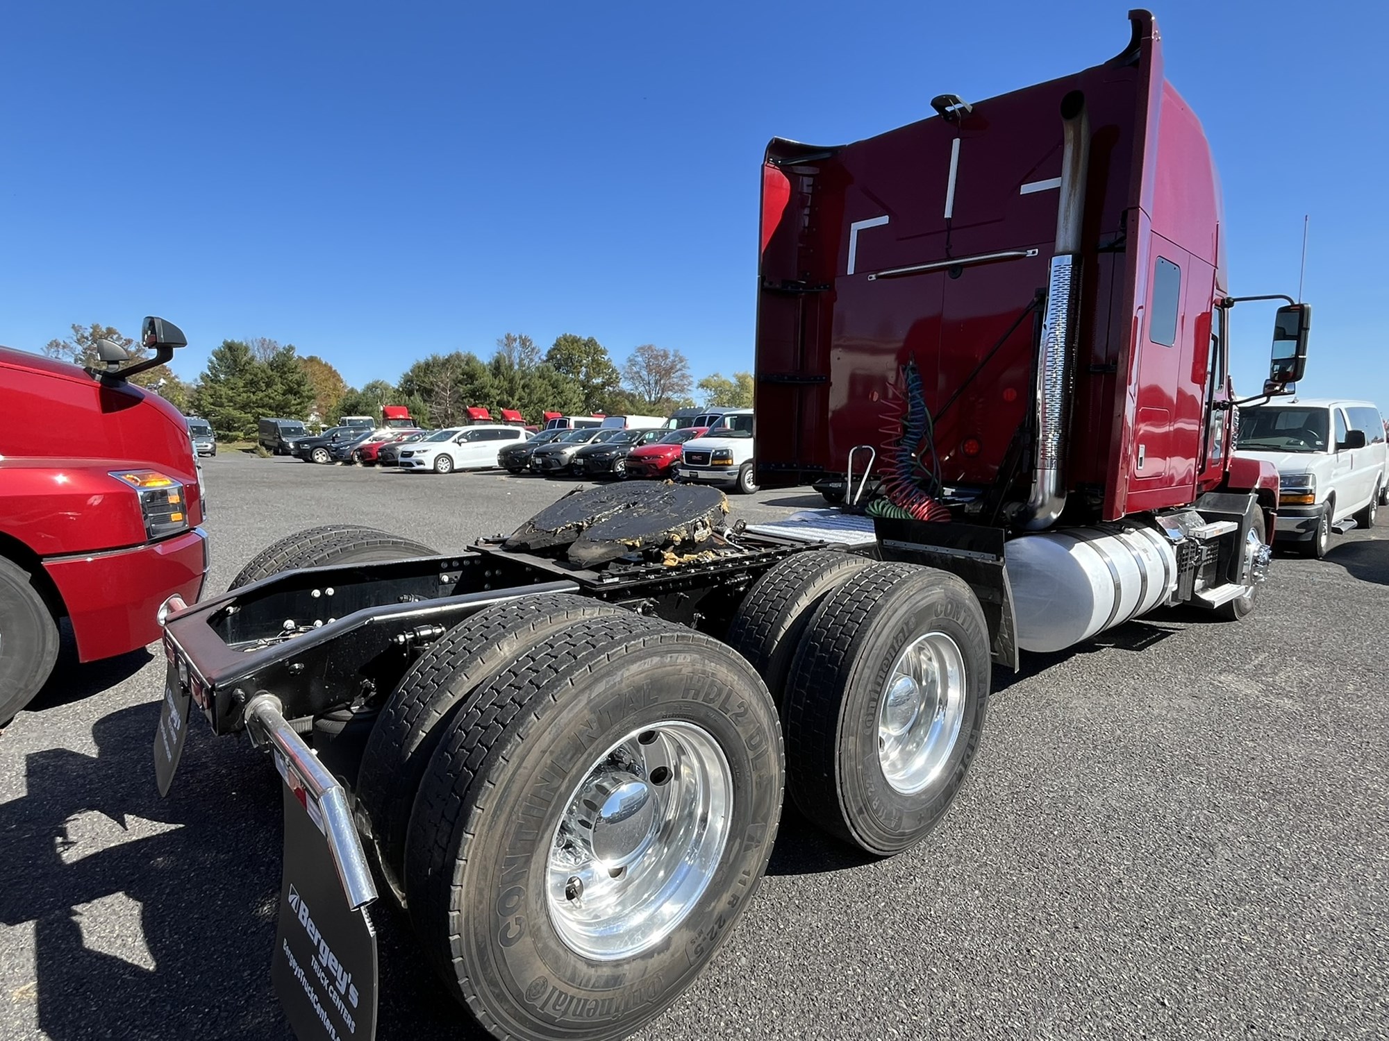
[[[1085,222],[1085,174],[1090,164],[1090,119],[1085,94],[1061,100],[1061,200],[1056,215],[1056,253],[1047,285],[1046,316],[1036,373],[1036,451],[1032,491],[1022,511],[1024,527],[1040,532],[1065,508],[1061,472],[1075,383],[1075,337],[1081,303],[1081,226]]]

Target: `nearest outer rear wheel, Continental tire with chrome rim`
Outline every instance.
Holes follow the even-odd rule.
[[[410,919],[493,1035],[625,1037],[747,906],[782,769],[767,688],[729,648],[639,616],[572,625],[488,680],[431,759]]]

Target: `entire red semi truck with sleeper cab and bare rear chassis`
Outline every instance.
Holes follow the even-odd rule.
[[[314,529],[171,598],[160,790],[193,705],[272,754],[300,1038],[375,1034],[378,880],[485,1030],[624,1037],[715,956],[783,791],[892,856],[964,784],[995,662],[1249,613],[1278,477],[1231,459],[1214,168],[1131,19],[1074,76],[768,149],[760,479],[856,507],[881,459],[865,509],[743,526],[631,480],[446,555]],[[1279,310],[1267,393],[1308,315]]]

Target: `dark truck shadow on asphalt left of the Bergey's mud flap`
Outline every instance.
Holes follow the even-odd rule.
[[[0,923],[33,930],[35,979],[18,990],[58,1041],[288,1038],[265,972],[279,779],[249,748],[218,747],[214,763],[211,741],[190,741],[186,787],[160,799],[157,718],[147,704],[99,719],[94,755],[31,752],[25,795],[0,805]],[[226,769],[232,790],[214,776]]]

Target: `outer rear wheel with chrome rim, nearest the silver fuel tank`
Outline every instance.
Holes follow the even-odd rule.
[[[782,709],[788,788],[828,833],[875,856],[940,822],[983,734],[989,629],[946,572],[874,564],[815,611]]]

